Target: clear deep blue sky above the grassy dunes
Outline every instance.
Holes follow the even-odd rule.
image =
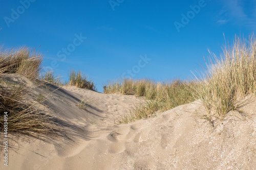
[[[1,45],[40,46],[45,68],[63,80],[82,70],[99,91],[122,76],[189,79],[208,49],[219,55],[225,39],[256,29],[249,0],[0,2]]]

